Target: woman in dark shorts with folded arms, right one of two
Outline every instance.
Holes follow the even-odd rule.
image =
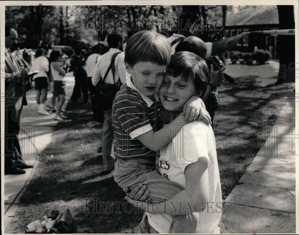
[[[67,118],[61,113],[61,107],[65,102],[65,71],[62,68],[63,64],[60,62],[60,52],[59,51],[52,51],[50,54],[50,68],[51,68],[51,74],[53,77],[53,88],[54,92],[53,95],[55,95],[58,98],[58,103],[56,104],[56,116],[55,120],[63,120],[63,118]]]

